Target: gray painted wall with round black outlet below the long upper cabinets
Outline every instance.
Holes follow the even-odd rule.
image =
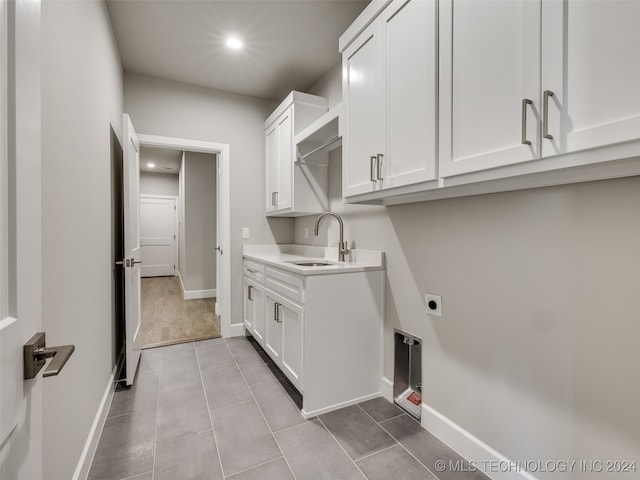
[[[341,161],[345,238],[386,252],[385,376],[406,330],[425,402],[508,458],[637,459],[640,177],[385,208],[343,204]],[[296,243],[336,245],[335,222],[315,239],[314,220],[296,219]]]

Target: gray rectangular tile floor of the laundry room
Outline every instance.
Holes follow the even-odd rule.
[[[89,480],[485,479],[377,398],[305,420],[244,338],[142,352],[115,393]]]

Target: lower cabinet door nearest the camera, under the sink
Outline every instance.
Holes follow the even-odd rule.
[[[285,375],[299,391],[303,391],[302,379],[302,324],[304,309],[295,303],[281,301],[282,367]]]

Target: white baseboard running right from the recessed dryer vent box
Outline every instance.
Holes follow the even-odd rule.
[[[493,480],[536,480],[528,472],[517,471],[507,457],[424,403],[420,423],[422,428],[438,437]]]

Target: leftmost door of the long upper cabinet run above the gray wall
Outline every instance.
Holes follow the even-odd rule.
[[[384,92],[380,83],[379,23],[374,22],[343,52],[342,194],[376,188],[375,163],[385,153]]]

